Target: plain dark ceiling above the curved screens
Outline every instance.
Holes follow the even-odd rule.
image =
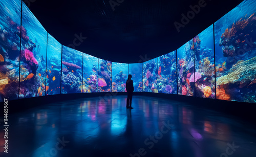
[[[24,0],[42,26],[61,44],[87,37],[76,50],[114,62],[144,62],[178,49],[241,0],[206,0],[180,32],[174,22],[202,0]],[[28,3],[29,2],[29,3]],[[113,10],[110,2],[120,2]],[[114,3],[113,3],[114,4]],[[77,40],[78,42],[78,40]]]

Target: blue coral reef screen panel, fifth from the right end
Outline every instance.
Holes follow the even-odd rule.
[[[157,91],[157,58],[143,62],[143,92]]]

